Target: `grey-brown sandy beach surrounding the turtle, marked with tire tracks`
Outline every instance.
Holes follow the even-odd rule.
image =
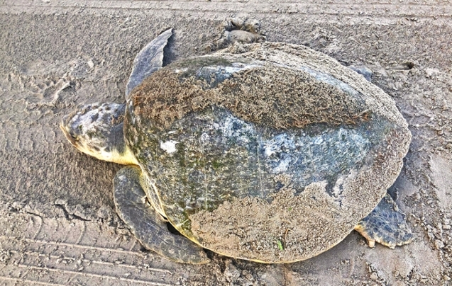
[[[143,250],[114,209],[121,166],[78,152],[58,125],[79,104],[122,103],[162,30],[175,29],[169,59],[204,55],[230,18],[373,71],[413,135],[390,188],[412,244],[369,248],[353,231],[280,265]],[[0,1],[1,285],[452,285],[451,35],[450,1]]]

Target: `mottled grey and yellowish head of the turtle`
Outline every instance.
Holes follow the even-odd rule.
[[[118,164],[138,164],[123,135],[125,104],[93,103],[66,115],[60,124],[69,142],[85,154]]]

